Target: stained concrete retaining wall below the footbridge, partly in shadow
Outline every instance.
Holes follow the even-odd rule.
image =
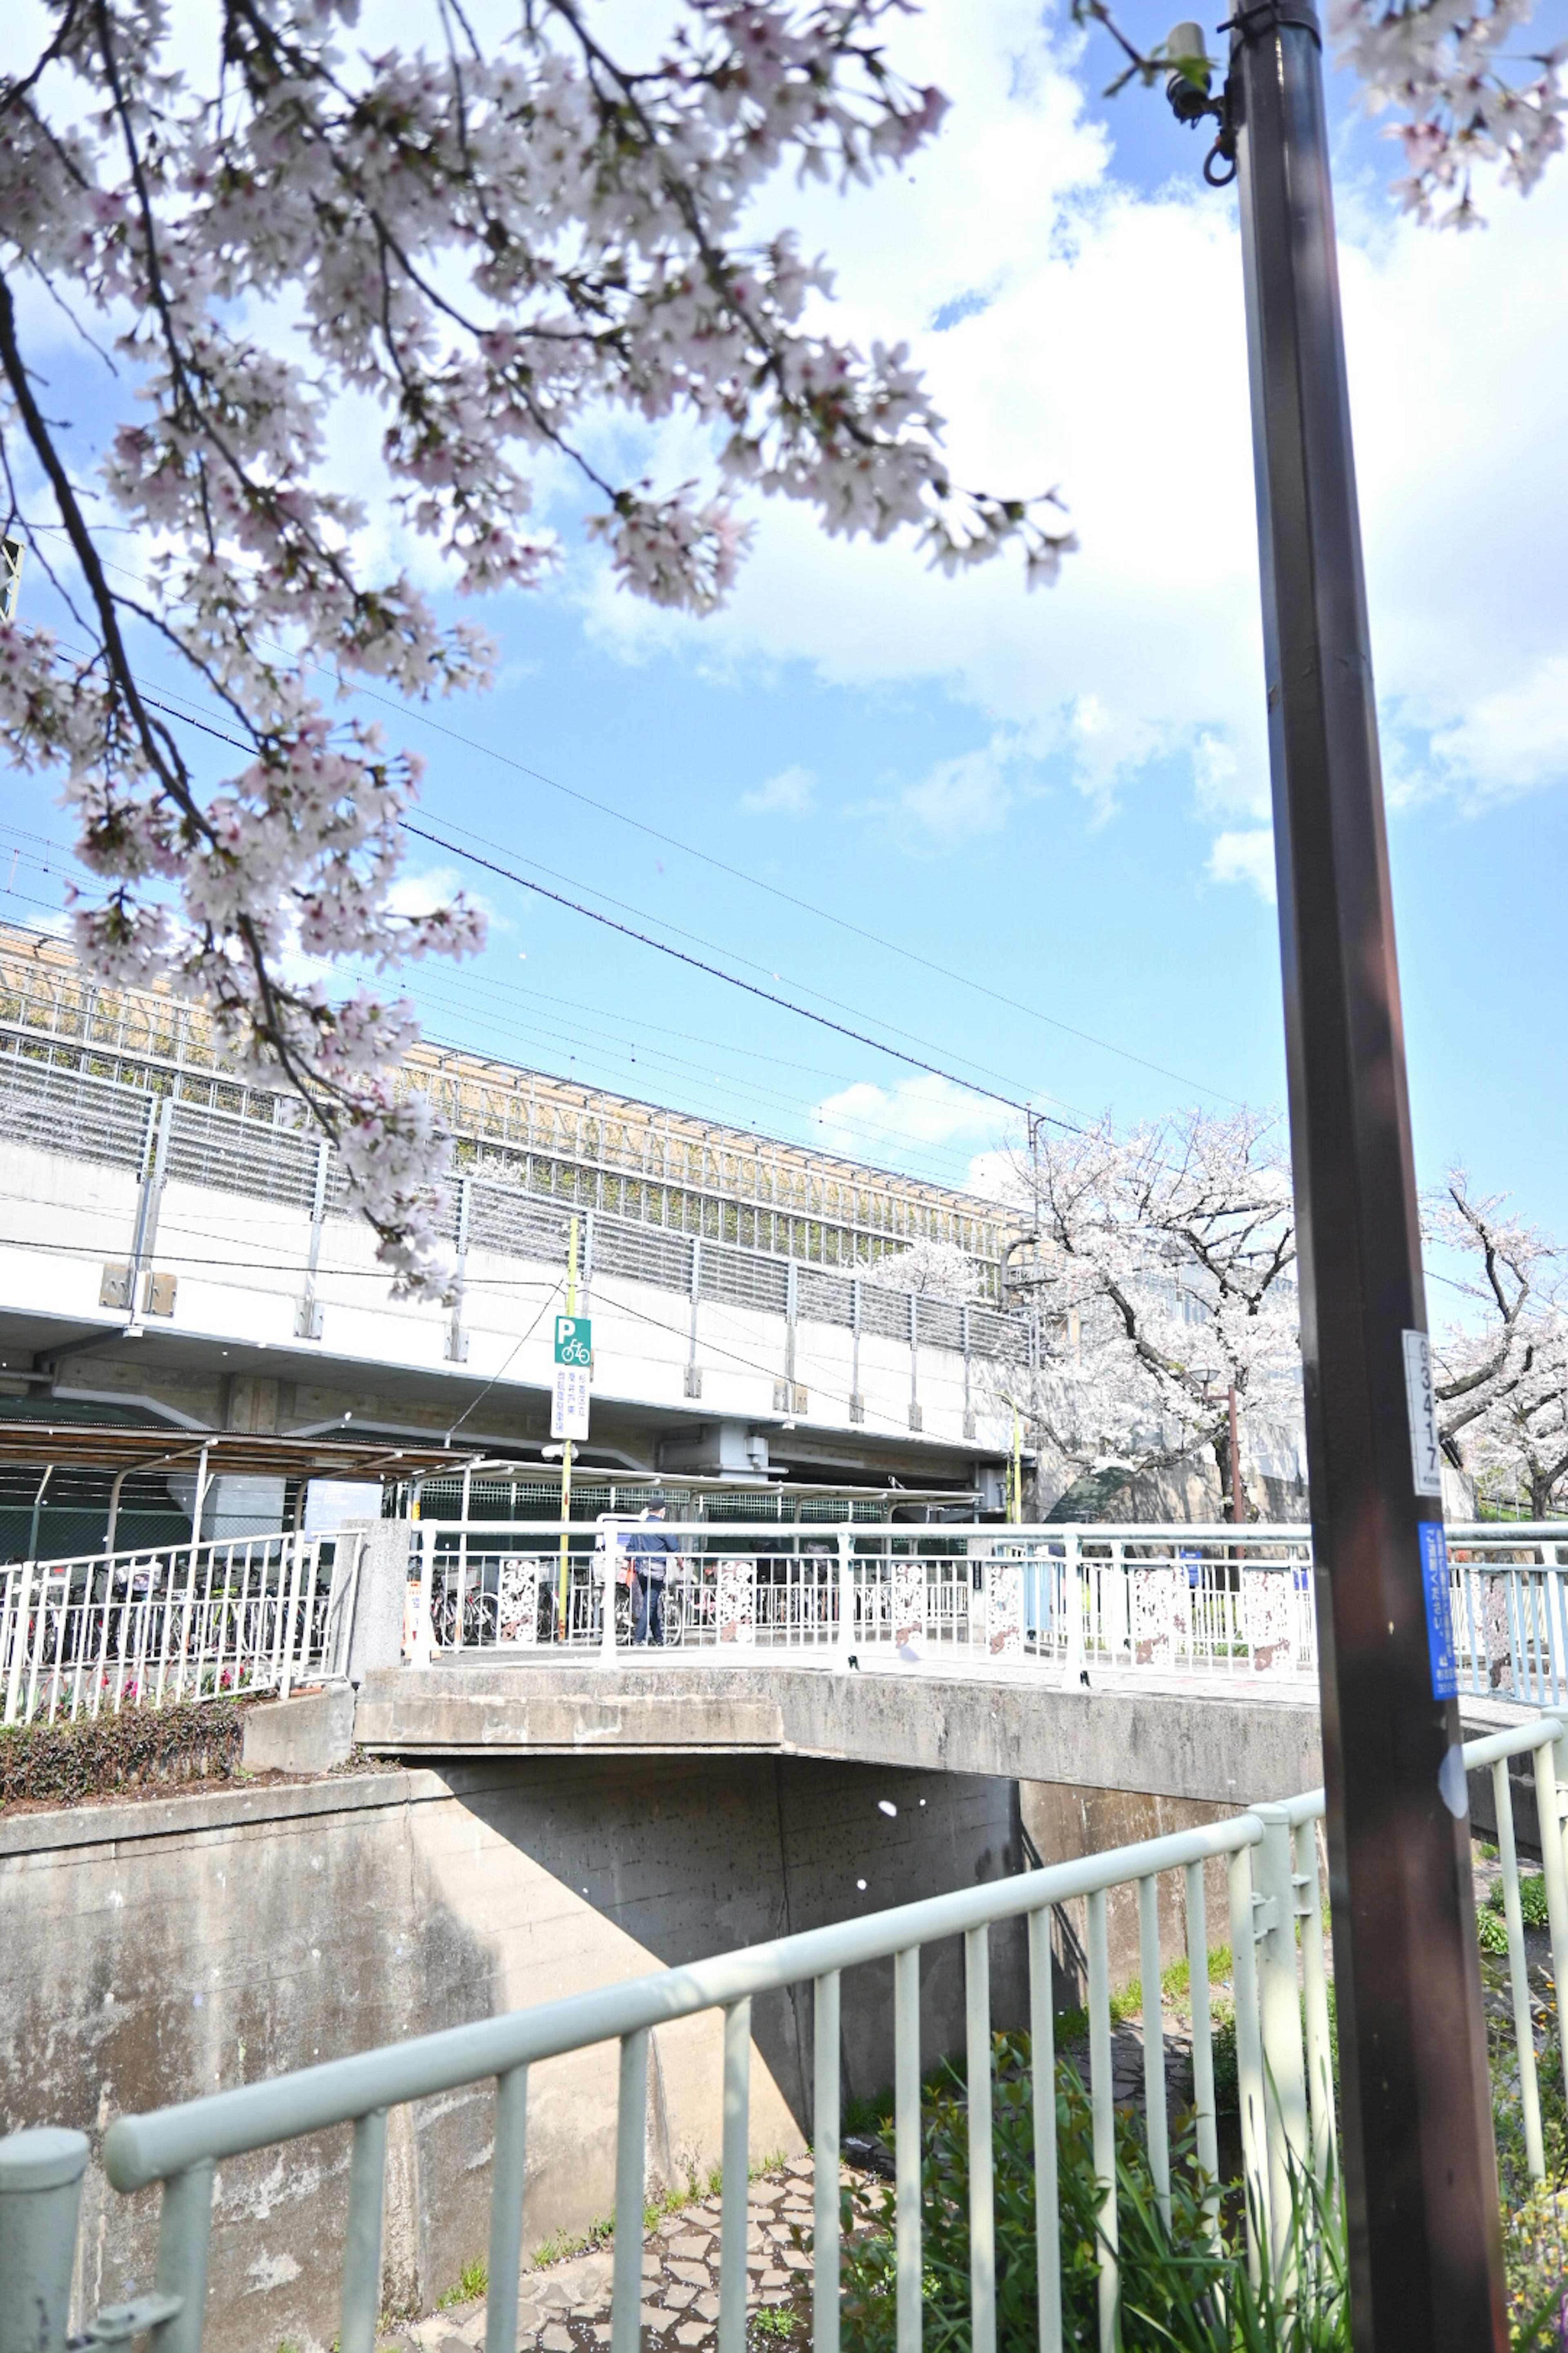
[[[879,1800],[896,1807],[884,1814]],[[1009,1781],[776,1758],[536,1758],[0,1821],[0,2129],[78,2125],[879,1911],[1020,1866]],[[1025,2017],[1018,1932],[997,2026]],[[924,2057],[961,1951],[922,1958]],[[891,2080],[891,1967],[844,1981],[844,2085]],[[719,2021],[654,2035],[649,2172],[719,2155]],[[757,2002],[752,2151],[809,2129],[811,2000]],[[538,2066],[524,2245],[611,2207],[614,2049]],[[386,2308],[484,2249],[491,2092],[395,2111]],[[209,2353],[329,2344],[348,2132],[223,2165]],[[85,2198],[78,2311],[153,2280],[155,2193]]]

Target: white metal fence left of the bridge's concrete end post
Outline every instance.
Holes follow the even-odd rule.
[[[341,1673],[357,1544],[228,1537],[0,1569],[5,1722],[282,1692]]]

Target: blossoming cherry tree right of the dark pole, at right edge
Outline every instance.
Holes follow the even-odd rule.
[[[1425,1202],[1427,1242],[1460,1266],[1469,1313],[1434,1341],[1443,1454],[1486,1492],[1523,1494],[1533,1520],[1568,1499],[1568,1308],[1561,1249],[1450,1169]]]

